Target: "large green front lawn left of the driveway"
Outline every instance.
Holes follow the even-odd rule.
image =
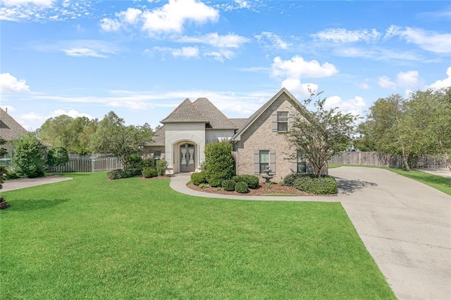
[[[395,299],[339,203],[70,176],[3,193],[2,299]]]

